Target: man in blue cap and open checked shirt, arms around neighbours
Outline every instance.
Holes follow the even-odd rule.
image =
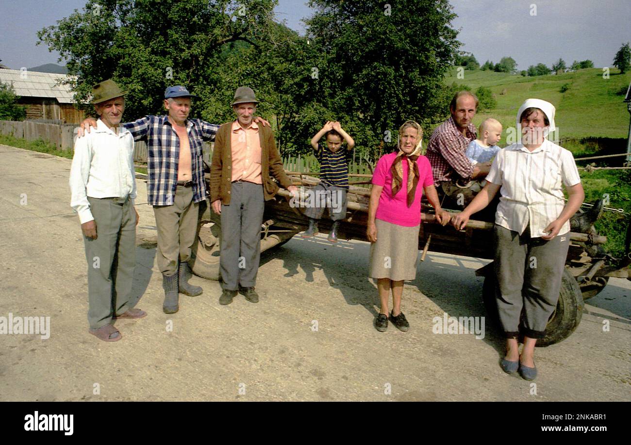
[[[179,310],[179,293],[196,296],[203,292],[189,284],[188,260],[197,232],[199,203],[208,192],[204,183],[202,141],[213,141],[219,129],[201,119],[188,119],[191,95],[181,85],[169,86],[164,95],[168,116],[145,116],[122,124],[134,141],[147,143],[148,204],[158,228],[156,261],[162,273],[165,299],[162,310],[173,314]],[[260,117],[256,122],[268,125]],[[93,121],[85,119],[82,127]]]

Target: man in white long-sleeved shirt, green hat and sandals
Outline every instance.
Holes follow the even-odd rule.
[[[103,341],[122,336],[116,318],[142,318],[132,293],[136,268],[134,138],[120,126],[124,95],[112,80],[93,87],[96,131],[74,144],[71,206],[79,214],[88,261],[88,323]]]

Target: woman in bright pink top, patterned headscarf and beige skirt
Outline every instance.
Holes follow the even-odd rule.
[[[421,155],[423,129],[406,121],[399,129],[398,151],[382,156],[372,175],[367,235],[370,245],[370,278],[377,279],[381,310],[375,328],[386,331],[390,321],[401,331],[410,324],[401,312],[404,280],[416,278],[418,232],[421,224],[423,190],[436,219],[449,223],[449,213],[440,208],[433,186],[432,167]],[[392,289],[392,312],[388,300]]]

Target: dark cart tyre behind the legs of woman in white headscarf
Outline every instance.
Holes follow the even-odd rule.
[[[488,317],[501,329],[497,303],[495,302],[496,283],[495,273],[490,271],[484,280],[482,292]],[[581,323],[583,307],[584,303],[579,283],[576,282],[574,276],[567,269],[563,269],[557,309],[552,312],[546,326],[545,335],[537,340],[537,346],[553,345],[568,338]],[[523,317],[524,312],[522,312],[522,321]]]

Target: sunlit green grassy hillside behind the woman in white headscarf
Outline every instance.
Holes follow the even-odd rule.
[[[476,126],[487,117],[495,117],[504,128],[515,126],[519,105],[534,97],[547,100],[557,108],[555,121],[560,138],[627,138],[629,113],[620,92],[626,92],[631,72],[620,74],[618,69],[612,68],[609,79],[603,79],[603,70],[599,68],[536,77],[481,70],[464,71],[464,79],[458,79],[456,74],[454,69],[445,83],[468,85],[473,91],[485,86],[495,93],[497,108],[477,114],[473,121]],[[569,88],[562,93],[560,90],[565,84]],[[503,90],[505,94],[501,94]]]

